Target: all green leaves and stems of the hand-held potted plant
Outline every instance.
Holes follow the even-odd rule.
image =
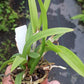
[[[26,34],[26,43],[22,54],[15,54],[8,61],[4,62],[0,67],[0,71],[10,62],[12,62],[11,72],[19,67],[28,67],[30,69],[29,74],[32,75],[35,67],[43,57],[44,53],[49,50],[56,52],[72,69],[84,77],[84,64],[82,61],[69,49],[61,45],[53,44],[58,38],[67,32],[73,31],[71,28],[56,27],[48,29],[47,22],[47,10],[50,4],[50,0],[38,0],[41,14],[38,18],[37,6],[35,0],[28,0],[31,23],[28,26]],[[42,27],[42,30],[40,28]],[[49,39],[47,39],[48,36]],[[37,45],[37,41],[41,43]],[[31,47],[32,46],[32,47]],[[28,58],[28,59],[27,59]],[[27,66],[24,66],[25,63]],[[26,70],[27,71],[27,70]],[[20,73],[22,74],[22,73]],[[15,79],[15,84],[21,84],[21,77],[17,81],[18,74]],[[22,75],[21,75],[22,76]]]

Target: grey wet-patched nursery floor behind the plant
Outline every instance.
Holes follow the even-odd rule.
[[[84,63],[84,27],[78,25],[78,20],[71,17],[81,13],[81,8],[76,0],[51,0],[48,11],[49,28],[70,27],[75,29],[60,38],[60,44],[71,49]],[[51,54],[53,54],[51,56]],[[45,58],[56,65],[67,67],[67,70],[53,69],[49,74],[49,81],[59,80],[61,84],[84,84],[84,78],[74,72],[59,56],[48,52]]]

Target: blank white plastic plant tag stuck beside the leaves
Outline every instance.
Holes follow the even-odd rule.
[[[22,54],[25,45],[26,32],[27,32],[26,25],[15,28],[15,40],[20,54]]]

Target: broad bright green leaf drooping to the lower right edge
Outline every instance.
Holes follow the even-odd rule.
[[[72,69],[84,77],[84,64],[82,61],[69,49],[64,46],[54,45],[49,40],[46,44],[50,49],[56,52]]]

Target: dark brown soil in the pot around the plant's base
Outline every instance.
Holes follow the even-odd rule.
[[[21,73],[23,70],[21,69],[16,69],[12,72],[12,74],[14,75],[11,75],[13,76],[13,79],[15,80],[15,75]],[[25,71],[26,73],[26,76],[25,78],[22,80],[22,81],[30,81],[31,80],[31,77],[29,75],[29,70]],[[42,78],[43,76],[45,75],[45,71],[42,69],[42,68],[38,68],[37,70],[35,70],[35,72],[32,74],[32,81],[36,81],[40,78]]]

